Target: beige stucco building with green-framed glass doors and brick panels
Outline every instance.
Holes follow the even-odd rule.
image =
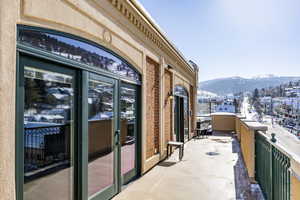
[[[198,67],[137,1],[0,13],[1,200],[111,199],[196,134]]]

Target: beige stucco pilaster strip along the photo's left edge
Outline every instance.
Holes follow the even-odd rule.
[[[15,75],[18,1],[0,1],[0,199],[15,199]]]

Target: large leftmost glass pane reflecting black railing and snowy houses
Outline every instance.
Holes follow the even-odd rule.
[[[74,79],[24,67],[25,200],[73,199]]]

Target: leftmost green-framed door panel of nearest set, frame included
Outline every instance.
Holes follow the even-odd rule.
[[[16,168],[23,192],[18,199],[78,196],[78,78],[64,66],[20,58]]]

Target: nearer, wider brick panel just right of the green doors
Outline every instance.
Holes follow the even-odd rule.
[[[146,116],[147,116],[147,153],[150,158],[159,152],[159,64],[146,59]]]

